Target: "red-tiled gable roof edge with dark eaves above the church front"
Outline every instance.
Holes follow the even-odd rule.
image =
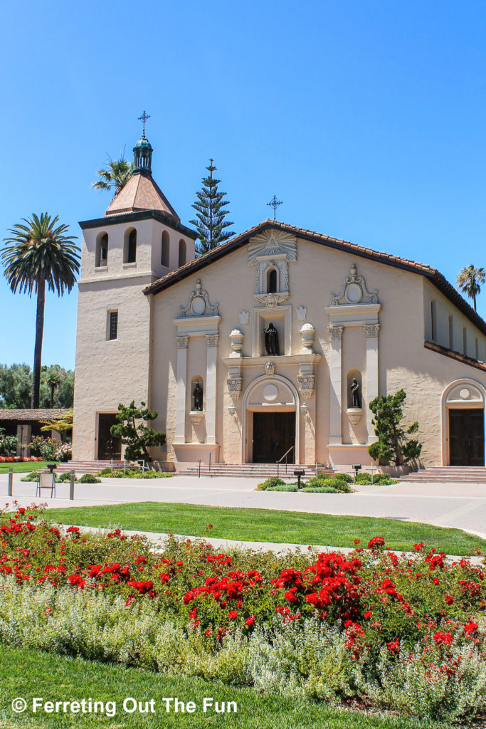
[[[176,270],[171,271],[171,273],[168,273],[167,276],[159,278],[157,281],[154,281],[153,284],[150,284],[146,287],[146,289],[144,289],[144,294],[158,294],[160,291],[168,289],[169,286],[173,286],[173,284],[181,281],[182,278],[186,278],[186,276],[189,276],[191,273],[195,273],[196,271],[205,268],[205,266],[219,260],[228,253],[244,246],[248,243],[249,239],[257,233],[262,233],[263,230],[269,230],[272,228],[275,230],[286,230],[286,232],[296,235],[297,238],[303,238],[304,240],[313,241],[314,243],[321,243],[321,245],[328,246],[329,248],[352,253],[356,256],[393,266],[393,268],[401,268],[402,270],[407,270],[410,273],[418,273],[421,276],[426,276],[426,278],[428,278],[428,280],[431,281],[431,283],[434,284],[434,286],[436,286],[436,288],[439,289],[444,296],[446,296],[458,309],[460,309],[460,311],[463,312],[465,316],[467,316],[474,326],[478,327],[478,329],[486,335],[486,321],[484,321],[484,319],[482,319],[479,314],[477,314],[474,309],[469,306],[466,300],[464,300],[456,291],[454,286],[452,286],[452,284],[447,281],[447,278],[444,278],[442,273],[436,270],[436,268],[431,268],[431,266],[424,263],[411,261],[400,256],[394,256],[389,253],[375,251],[371,248],[365,248],[364,246],[358,246],[356,243],[350,243],[349,241],[341,241],[339,238],[331,238],[329,235],[315,233],[313,230],[306,230],[305,228],[295,227],[294,225],[288,225],[287,223],[281,223],[270,219],[264,220],[258,225],[254,225],[254,227],[251,227],[244,233],[240,233],[240,235],[236,235],[235,238],[231,238],[226,243],[222,243],[221,246],[205,253],[200,258],[196,258],[186,265],[181,266],[181,268],[176,268]]]

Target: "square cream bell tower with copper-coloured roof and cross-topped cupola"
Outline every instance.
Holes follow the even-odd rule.
[[[195,257],[197,233],[152,177],[144,128],[133,147],[133,174],[101,218],[79,223],[79,278],[73,458],[117,460],[110,426],[120,402],[150,407],[152,326],[144,289]]]

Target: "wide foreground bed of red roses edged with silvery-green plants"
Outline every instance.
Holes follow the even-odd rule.
[[[423,717],[486,709],[482,566],[382,537],[340,553],[219,553],[39,510],[0,518],[0,640]]]

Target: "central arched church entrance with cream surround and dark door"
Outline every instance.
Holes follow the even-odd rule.
[[[299,463],[298,395],[281,375],[259,377],[243,395],[243,463]]]

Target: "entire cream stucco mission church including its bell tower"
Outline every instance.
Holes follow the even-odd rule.
[[[146,402],[154,459],[371,464],[369,402],[403,388],[421,461],[485,465],[486,323],[433,268],[265,220],[194,258],[151,171],[82,222],[74,459],[119,458]]]

